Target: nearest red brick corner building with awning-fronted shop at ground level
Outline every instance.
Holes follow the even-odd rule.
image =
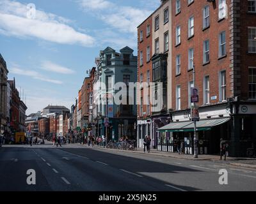
[[[163,6],[164,12],[157,14]],[[218,154],[222,138],[229,143],[231,156],[246,156],[246,149],[256,142],[255,1],[167,0],[159,8],[152,14],[152,24],[162,25],[166,17],[172,23],[167,60],[167,106],[171,122],[155,126],[157,149],[173,152],[180,138],[186,154],[193,154],[194,142],[198,154]],[[165,32],[152,29],[153,46]],[[166,55],[161,49],[165,42],[158,41],[159,54]],[[191,121],[194,87],[198,89],[196,105],[200,117],[195,141]],[[158,120],[163,121],[164,114],[158,115]]]

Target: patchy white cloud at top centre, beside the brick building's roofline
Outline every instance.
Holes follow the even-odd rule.
[[[97,1],[100,2],[98,7],[95,4],[95,1],[91,0],[79,0],[77,3],[79,3],[86,12],[92,11],[93,14],[97,15],[97,17],[103,20],[106,24],[111,25],[111,27],[124,33],[128,32],[136,35],[138,25],[152,13],[152,11],[147,9],[133,8],[131,6],[118,6],[118,4],[105,0]]]

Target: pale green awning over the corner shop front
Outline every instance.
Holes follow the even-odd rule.
[[[228,122],[230,117],[220,119],[207,119],[196,122],[196,131],[210,130],[214,126],[219,126]],[[178,125],[180,124],[180,125]],[[159,132],[192,132],[194,131],[194,122],[171,122],[170,124],[157,129]]]

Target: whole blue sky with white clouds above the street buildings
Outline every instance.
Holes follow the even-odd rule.
[[[100,50],[129,46],[160,0],[0,0],[0,53],[26,114],[75,103]]]

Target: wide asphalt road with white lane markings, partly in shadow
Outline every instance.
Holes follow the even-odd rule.
[[[27,171],[36,184],[27,184]],[[220,169],[228,184],[220,185]],[[0,191],[255,191],[256,170],[223,161],[51,145],[0,149]]]

